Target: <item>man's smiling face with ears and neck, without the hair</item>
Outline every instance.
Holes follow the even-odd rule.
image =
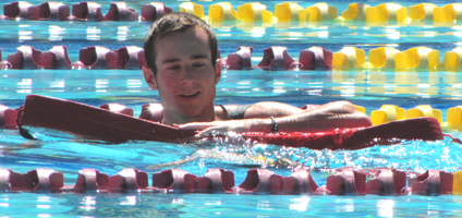
[[[206,32],[190,27],[169,33],[155,44],[157,75],[149,70],[144,74],[148,85],[159,90],[166,122],[180,124],[214,119],[216,85],[221,71],[219,64],[217,70],[211,64]]]

